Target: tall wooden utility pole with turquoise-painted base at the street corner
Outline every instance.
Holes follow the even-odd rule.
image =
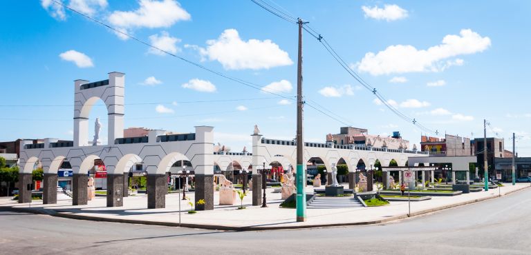
[[[306,221],[306,192],[304,182],[306,172],[304,170],[304,140],[302,138],[303,105],[302,98],[302,26],[304,23],[299,19],[299,59],[297,63],[297,222]]]

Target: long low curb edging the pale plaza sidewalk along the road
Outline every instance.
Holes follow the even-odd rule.
[[[501,196],[506,196],[514,192],[519,192],[529,187],[531,186],[523,187],[518,190],[512,190]],[[449,209],[452,207],[458,207],[458,206],[468,205],[472,203],[478,203],[478,202],[486,201],[492,198],[499,198],[501,196],[496,195],[492,197],[478,198],[472,201],[465,201],[465,202],[456,203],[452,205],[443,205],[440,207],[422,210],[419,212],[413,212],[411,213],[411,215],[402,214],[402,215],[392,216],[389,218],[384,218],[382,220],[377,220],[377,221],[360,221],[360,222],[354,222],[354,223],[333,223],[333,224],[278,226],[278,227],[261,227],[261,226],[252,226],[252,225],[236,227],[236,226],[227,226],[227,225],[203,225],[203,224],[194,224],[194,223],[181,223],[179,225],[179,223],[165,222],[165,221],[141,221],[141,220],[132,220],[132,219],[124,219],[124,218],[105,218],[105,217],[99,217],[99,216],[86,216],[86,215],[80,215],[80,214],[71,214],[70,212],[61,212],[59,210],[33,209],[33,208],[21,208],[21,207],[10,207],[10,206],[0,206],[0,209],[12,211],[12,212],[29,212],[32,214],[46,214],[46,215],[60,217],[60,218],[71,218],[71,219],[85,220],[85,221],[103,221],[103,222],[114,222],[114,223],[142,224],[142,225],[160,225],[160,226],[167,226],[167,227],[189,227],[189,228],[198,228],[198,229],[203,229],[203,230],[225,230],[225,231],[243,232],[243,231],[260,231],[260,230],[298,230],[298,229],[319,228],[319,227],[374,225],[374,224],[388,223],[390,221],[397,221],[403,218],[411,218],[413,216],[420,216],[422,214],[429,214],[431,212],[437,212],[437,211]]]

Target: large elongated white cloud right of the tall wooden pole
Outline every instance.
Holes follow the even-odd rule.
[[[445,59],[483,52],[490,45],[489,37],[481,37],[472,30],[463,29],[459,35],[448,34],[440,45],[427,50],[417,50],[412,45],[391,45],[377,54],[367,52],[355,66],[360,72],[369,72],[375,76],[407,72],[439,72],[449,65],[463,64],[463,59],[446,63]]]

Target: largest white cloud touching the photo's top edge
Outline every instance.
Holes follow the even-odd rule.
[[[140,0],[138,3],[140,8],[137,10],[111,13],[109,23],[122,32],[128,32],[133,28],[169,28],[177,21],[191,19],[190,14],[174,0]]]

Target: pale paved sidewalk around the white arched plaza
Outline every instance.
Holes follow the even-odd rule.
[[[530,187],[528,183],[516,183],[514,186],[507,183],[507,186],[501,187],[501,195],[504,196],[527,187]],[[313,189],[307,187],[306,191],[311,192]],[[193,192],[187,193],[187,196],[191,201],[194,201]],[[411,216],[484,201],[498,196],[498,189],[451,197],[434,196],[428,201],[411,202]],[[88,201],[88,205],[73,206],[71,199],[58,194],[56,205],[42,205],[41,201],[38,201],[32,203],[30,212],[95,221],[178,226],[178,205],[180,203],[183,227],[237,231],[367,225],[407,218],[408,213],[407,202],[391,202],[382,207],[309,209],[307,210],[307,221],[297,223],[295,221],[295,209],[279,207],[281,194],[272,193],[272,189],[268,189],[267,208],[250,205],[251,197],[250,192],[248,192],[248,196],[243,201],[243,205],[247,206],[247,209],[236,210],[236,207],[239,206],[239,200],[238,205],[219,206],[216,205],[219,195],[218,192],[215,192],[214,204],[216,206],[214,206],[214,210],[187,214],[187,210],[190,209],[187,205],[188,201],[179,200],[178,194],[166,196],[166,208],[164,209],[146,209],[147,196],[145,194],[124,198],[123,207],[106,207],[105,197],[96,197],[93,201]],[[7,198],[0,198],[0,207],[28,212],[29,203],[19,204],[16,202]]]

